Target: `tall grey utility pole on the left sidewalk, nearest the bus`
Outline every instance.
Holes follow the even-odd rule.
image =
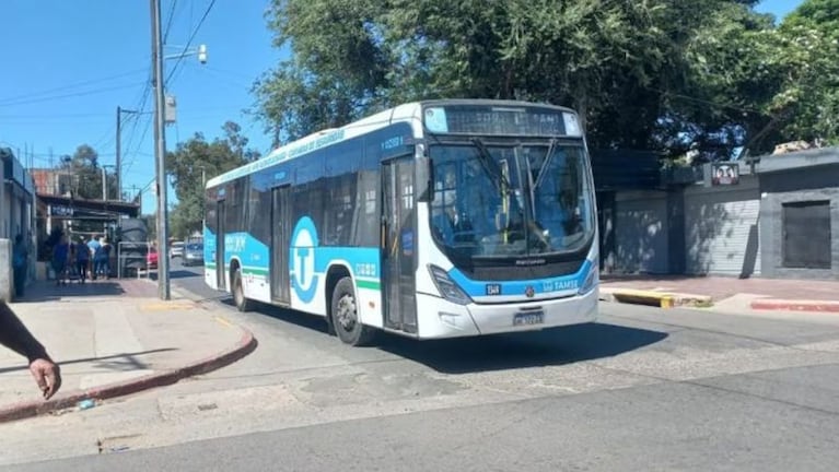
[[[164,122],[165,97],[163,94],[163,39],[160,27],[160,0],[150,0],[151,3],[151,33],[152,33],[152,61],[154,62],[154,154],[158,196],[158,296],[167,300],[170,295],[168,283],[168,231],[166,216],[168,205],[166,203],[166,128]]]

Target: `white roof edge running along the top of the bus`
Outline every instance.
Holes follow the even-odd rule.
[[[212,188],[218,185],[235,180],[240,177],[253,174],[267,167],[271,167],[281,162],[299,157],[311,151],[345,141],[360,134],[369,133],[396,122],[410,122],[413,120],[421,122],[422,108],[429,105],[540,106],[574,113],[572,109],[567,107],[517,101],[457,98],[411,102],[398,105],[384,111],[380,111],[377,114],[345,125],[340,128],[330,128],[317,131],[296,141],[292,141],[286,145],[277,148],[265,157],[211,178],[207,181],[206,187]]]

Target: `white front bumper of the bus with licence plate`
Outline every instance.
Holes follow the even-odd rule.
[[[419,295],[419,338],[458,338],[535,331],[593,322],[597,318],[598,290],[584,295],[526,304],[466,306],[440,297]]]

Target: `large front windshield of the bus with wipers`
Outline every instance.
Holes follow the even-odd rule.
[[[432,234],[450,256],[531,257],[578,250],[594,232],[582,145],[473,140],[430,146]]]

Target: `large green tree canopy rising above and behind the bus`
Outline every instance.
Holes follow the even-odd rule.
[[[594,148],[724,157],[836,137],[838,1],[776,26],[755,0],[272,0],[292,57],[255,93],[277,143],[398,103],[491,97],[572,106]]]

